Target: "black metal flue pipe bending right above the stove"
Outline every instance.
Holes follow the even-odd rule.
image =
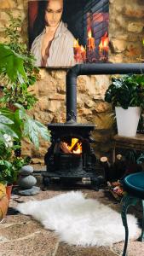
[[[80,75],[144,73],[142,63],[78,64],[66,74],[66,122],[77,122],[77,78]]]

